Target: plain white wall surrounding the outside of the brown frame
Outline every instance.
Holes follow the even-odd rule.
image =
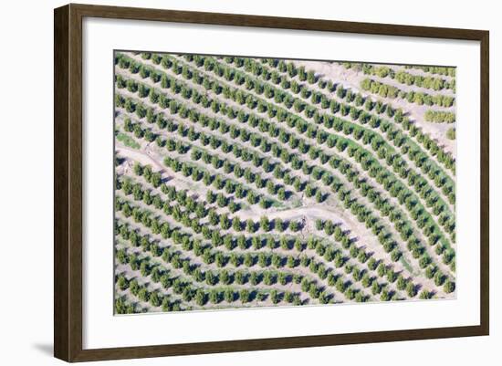
[[[88,1],[101,4],[97,1]],[[338,3],[338,4],[336,4]],[[8,5],[7,5],[8,4]],[[0,15],[0,361],[6,365],[60,364],[52,358],[52,78],[53,8],[63,1],[5,2]],[[309,0],[273,2],[250,0],[112,1],[130,5],[264,16],[298,16],[421,26],[452,26],[490,30],[491,41],[491,335],[455,340],[421,340],[297,350],[270,350],[151,359],[110,361],[119,365],[305,365],[370,363],[372,365],[497,364],[502,342],[502,318],[497,313],[502,296],[501,254],[497,230],[501,214],[502,173],[502,23],[497,2],[422,0],[413,7],[403,1],[328,2]],[[353,5],[353,7],[351,6]],[[29,221],[27,221],[29,220]],[[93,363],[96,365],[104,362]]]

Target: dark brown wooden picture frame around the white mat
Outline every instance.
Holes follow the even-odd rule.
[[[434,37],[480,42],[481,273],[480,325],[403,329],[288,338],[211,341],[84,350],[82,347],[82,19],[85,16],[179,23],[256,26],[365,35]],[[272,16],[243,16],[98,5],[65,5],[54,12],[54,354],[64,361],[97,361],[242,350],[272,350],[396,340],[488,335],[489,332],[489,33],[484,30],[396,26]]]

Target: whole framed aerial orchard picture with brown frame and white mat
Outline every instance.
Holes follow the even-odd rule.
[[[488,334],[487,31],[54,24],[56,357]]]

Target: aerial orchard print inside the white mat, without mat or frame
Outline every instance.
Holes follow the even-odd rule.
[[[113,62],[115,314],[455,298],[455,67]]]

